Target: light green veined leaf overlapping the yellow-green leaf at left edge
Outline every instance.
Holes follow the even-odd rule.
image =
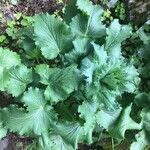
[[[8,93],[17,97],[22,94],[27,85],[32,82],[32,70],[24,65],[14,67],[9,72]]]

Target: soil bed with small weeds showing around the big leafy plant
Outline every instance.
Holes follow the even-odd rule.
[[[93,2],[95,4],[101,4],[101,6],[104,8],[106,15],[103,16],[102,21],[104,24],[106,24],[106,26],[109,26],[113,19],[118,18],[122,24],[131,23],[133,26],[134,32],[136,32],[138,30],[137,28],[142,27],[143,24],[150,17],[150,1],[149,0],[132,1],[132,2],[130,0],[120,1],[118,4],[116,3],[115,5],[111,6],[111,8],[109,8],[109,5],[107,3],[104,3],[104,1],[93,0]],[[24,27],[28,27],[32,22],[32,16],[34,16],[35,14],[39,14],[41,12],[44,12],[44,13],[48,12],[49,14],[55,14],[56,16],[63,18],[64,7],[67,5],[68,5],[67,1],[58,2],[55,0],[33,0],[33,1],[29,1],[29,0],[21,1],[20,0],[15,5],[10,3],[9,1],[2,1],[0,5],[1,7],[0,13],[2,14],[2,16],[0,17],[0,21],[1,21],[0,33],[1,35],[4,35],[6,39],[4,40],[0,39],[2,40],[2,42],[0,42],[1,44],[0,46],[7,47],[9,49],[14,49],[15,52],[21,55],[22,50],[20,51],[20,47],[18,46],[19,44],[16,45],[16,43],[18,42],[18,37],[20,36],[18,35],[18,31]],[[121,7],[121,10],[123,11],[120,11],[120,7]],[[15,22],[13,22],[14,20]],[[16,34],[17,36],[15,37],[14,34]],[[135,44],[136,40],[139,40],[139,39],[134,38],[133,41],[132,41],[132,38],[127,39],[126,43],[122,44],[122,47],[125,48],[124,54],[123,54],[124,57],[130,58],[132,57],[131,55],[134,55],[133,57],[135,57],[136,52],[129,51],[129,50],[135,46],[133,45],[133,43]],[[22,55],[21,58],[22,57],[24,56]],[[55,66],[55,65],[59,66],[60,65],[59,63],[62,63],[62,62],[57,63],[57,61],[58,61],[57,59],[54,62],[51,62],[48,60],[48,63],[52,66]],[[37,63],[37,62],[38,61],[35,61],[30,65],[33,65],[34,63]],[[38,63],[45,63],[45,60],[43,61],[41,59],[39,60]],[[135,67],[137,67],[136,65],[137,64],[135,64]],[[144,80],[143,80],[143,77],[141,78],[142,78],[142,81],[144,81],[143,84],[145,86],[145,80],[147,82],[149,81],[149,79],[147,78],[145,79],[144,77]],[[142,86],[142,88],[144,88],[144,86]],[[43,87],[45,87],[45,85],[43,85]],[[16,101],[15,98],[11,96],[11,94],[8,94],[7,92],[1,92],[0,93],[0,107],[4,108],[4,107],[9,106],[10,104],[18,105],[19,107],[24,107],[23,104]],[[122,105],[122,103],[120,104]],[[69,105],[71,107],[75,107],[76,102],[73,101],[73,103]],[[127,106],[126,104],[123,104],[123,105]],[[59,109],[59,107],[57,108],[56,106],[55,109],[57,110]],[[26,137],[26,136],[18,136],[18,134],[10,132],[7,134],[5,138],[3,138],[0,141],[0,150],[25,150],[26,148],[28,149],[33,148],[34,150],[35,148],[34,146],[36,144],[34,145],[33,141],[34,141],[33,137],[31,138],[31,137]],[[95,142],[92,145],[79,144],[78,149],[79,150],[111,150],[115,147],[115,150],[122,150],[122,149],[129,149],[130,147],[129,145],[131,144],[131,141],[128,141],[128,140],[121,142],[119,145],[117,145],[115,142],[116,141],[114,141],[113,143],[112,139],[108,138],[107,140],[100,140],[99,142]],[[114,146],[114,144],[116,145]]]

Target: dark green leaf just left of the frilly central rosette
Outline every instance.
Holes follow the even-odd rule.
[[[65,100],[73,91],[78,89],[79,78],[78,70],[74,65],[57,69],[49,76],[49,85],[44,93],[46,99],[51,102]]]

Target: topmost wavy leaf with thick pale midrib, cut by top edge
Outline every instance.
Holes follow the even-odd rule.
[[[72,32],[84,37],[99,38],[104,36],[105,26],[100,20],[103,9],[100,6],[92,5],[87,0],[77,0],[77,6],[85,15],[77,15],[72,19],[70,23]]]

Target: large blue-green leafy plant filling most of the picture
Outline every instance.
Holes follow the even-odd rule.
[[[28,148],[40,150],[103,139],[112,149],[125,139],[131,150],[148,147],[149,22],[133,33],[118,19],[104,24],[104,14],[91,1],[71,1],[62,18],[41,13],[23,22],[10,36],[16,49],[3,43],[0,91],[14,98],[0,108],[0,138],[32,137]],[[136,38],[136,49],[126,50],[123,43]]]

